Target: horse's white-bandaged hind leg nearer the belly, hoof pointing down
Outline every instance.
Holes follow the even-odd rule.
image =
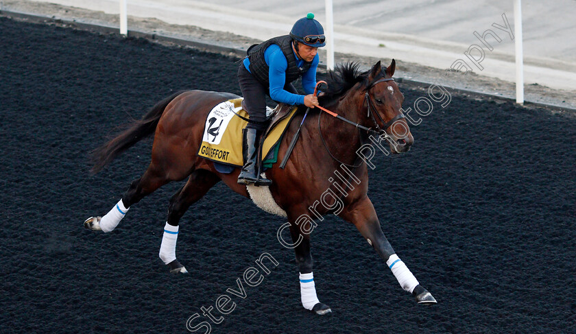
[[[160,244],[160,259],[168,265],[173,274],[187,273],[184,265],[176,259],[176,241],[178,239],[178,222],[188,208],[200,200],[220,178],[210,171],[197,169],[194,171],[184,187],[170,199],[168,219],[164,227],[164,235]]]

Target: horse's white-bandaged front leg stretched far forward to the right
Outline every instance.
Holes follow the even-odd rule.
[[[414,275],[410,272],[405,263],[400,260],[392,245],[386,239],[380,222],[376,216],[376,211],[370,199],[365,196],[360,200],[350,204],[341,211],[340,217],[352,222],[366,241],[374,247],[374,250],[386,261],[386,264],[392,270],[392,274],[400,283],[400,286],[416,297],[418,304],[435,304],[434,297],[424,289]]]

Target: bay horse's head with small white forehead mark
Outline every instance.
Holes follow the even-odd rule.
[[[400,153],[410,150],[414,137],[402,112],[404,95],[392,78],[395,69],[394,59],[385,71],[382,71],[380,62],[372,67],[363,89],[363,104],[368,110],[361,110],[366,110],[367,121],[372,121],[381,137],[387,139],[390,150]]]

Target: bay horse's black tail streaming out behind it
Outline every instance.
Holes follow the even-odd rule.
[[[94,150],[92,152],[92,160],[94,163],[92,172],[99,172],[119,154],[128,150],[135,143],[138,143],[150,134],[153,134],[156,131],[156,126],[158,126],[158,121],[160,120],[160,116],[162,116],[166,106],[168,106],[175,97],[182,93],[184,93],[184,91],[179,91],[178,93],[174,93],[170,97],[158,102],[156,106],[152,107],[152,109],[142,117],[142,119],[127,124],[128,128],[121,132],[121,134],[110,139],[108,143],[101,145]]]

